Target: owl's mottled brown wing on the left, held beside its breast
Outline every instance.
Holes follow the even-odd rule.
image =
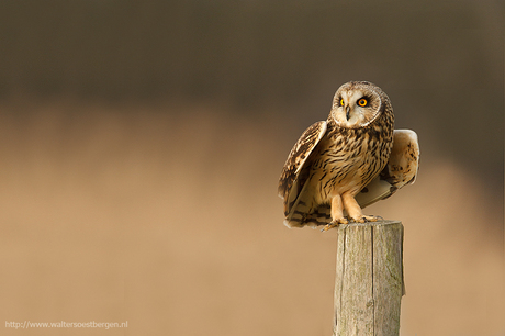
[[[304,184],[304,178],[300,172],[307,161],[311,153],[326,133],[326,122],[314,123],[303,132],[288,156],[279,179],[279,197],[284,200],[284,212],[288,213],[296,200]]]

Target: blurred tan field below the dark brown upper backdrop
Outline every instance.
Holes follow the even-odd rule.
[[[336,237],[282,225],[295,138],[276,113],[0,109],[1,315],[128,322],[2,335],[330,335]],[[502,200],[430,148],[414,186],[367,209],[405,225],[401,334],[504,335]]]

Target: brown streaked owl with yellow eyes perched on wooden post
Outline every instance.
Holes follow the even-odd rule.
[[[335,93],[326,121],[310,126],[291,149],[279,180],[289,227],[329,229],[374,222],[362,208],[415,181],[417,135],[394,130],[391,101],[368,81],[350,81]]]

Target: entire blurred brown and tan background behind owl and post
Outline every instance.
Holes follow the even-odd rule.
[[[369,80],[415,130],[401,335],[505,335],[504,3],[1,1],[0,312],[330,335],[336,233],[282,225],[291,146]]]

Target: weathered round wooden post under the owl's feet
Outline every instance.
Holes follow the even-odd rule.
[[[402,223],[340,224],[337,231],[334,336],[399,335]]]

